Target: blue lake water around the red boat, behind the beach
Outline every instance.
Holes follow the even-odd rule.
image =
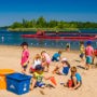
[[[97,34],[97,30],[81,30],[82,32],[94,32]],[[6,30],[0,30],[0,45],[19,45],[23,41],[29,43],[30,46],[41,46],[41,47],[57,47],[65,48],[66,43],[70,43],[72,50],[79,50],[80,41],[65,41],[65,40],[43,40],[43,39],[28,39],[22,38],[22,34],[32,33],[32,32],[10,32]],[[97,47],[97,40],[92,41],[93,46]],[[85,41],[86,45],[86,41]]]

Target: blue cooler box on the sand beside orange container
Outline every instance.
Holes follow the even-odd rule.
[[[13,73],[6,75],[6,89],[17,95],[29,92],[30,75]]]

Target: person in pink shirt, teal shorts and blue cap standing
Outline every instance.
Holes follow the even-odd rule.
[[[86,48],[85,48],[85,57],[86,57],[85,69],[89,69],[91,65],[93,63],[93,58],[94,58],[94,48],[92,46],[91,41],[87,41],[87,45],[86,45]]]

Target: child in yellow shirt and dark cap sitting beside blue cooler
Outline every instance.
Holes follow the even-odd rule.
[[[50,77],[44,77],[43,67],[41,65],[38,65],[36,66],[36,72],[33,73],[32,84],[30,86],[30,89],[32,91],[34,86],[45,87],[45,83],[43,82],[43,79],[48,80]]]

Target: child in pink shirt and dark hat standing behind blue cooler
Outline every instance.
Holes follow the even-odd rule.
[[[27,42],[23,42],[20,44],[20,46],[23,47],[22,61],[20,61],[20,65],[22,65],[22,68],[23,68],[22,72],[26,73],[26,69],[27,69],[28,64],[29,64],[28,43]]]

